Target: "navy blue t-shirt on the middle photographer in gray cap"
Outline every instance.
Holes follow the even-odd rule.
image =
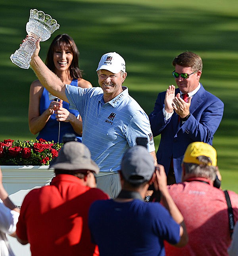
[[[165,255],[163,240],[180,241],[180,226],[159,203],[99,200],[89,210],[92,242],[100,256]]]

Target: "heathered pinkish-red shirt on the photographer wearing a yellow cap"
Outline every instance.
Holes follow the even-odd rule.
[[[169,256],[221,256],[228,255],[230,233],[225,194],[213,185],[196,180],[169,186],[175,204],[184,217],[188,232],[188,244],[177,248],[165,244]],[[228,191],[233,208],[234,221],[238,220],[238,194]]]

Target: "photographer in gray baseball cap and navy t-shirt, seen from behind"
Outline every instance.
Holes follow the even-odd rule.
[[[98,244],[100,255],[165,255],[163,240],[184,246],[188,237],[183,216],[169,195],[163,166],[155,170],[146,147],[127,150],[120,177],[122,191],[117,198],[94,202],[89,210],[92,242]],[[153,182],[169,212],[159,203],[144,201]]]

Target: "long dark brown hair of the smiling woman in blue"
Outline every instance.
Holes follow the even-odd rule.
[[[73,79],[82,78],[82,70],[79,69],[79,50],[73,38],[67,34],[58,35],[57,37],[54,38],[54,40],[50,44],[50,48],[46,56],[46,66],[52,72],[55,72],[53,55],[55,50],[61,49],[61,48],[68,48],[69,50],[71,50],[73,54],[73,60],[69,67],[71,78]]]

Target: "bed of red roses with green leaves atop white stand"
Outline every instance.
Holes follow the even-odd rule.
[[[43,139],[31,141],[0,141],[0,165],[45,166],[58,156],[63,143]]]

